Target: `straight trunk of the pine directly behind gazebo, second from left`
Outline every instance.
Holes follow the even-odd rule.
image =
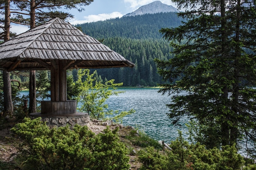
[[[36,2],[30,1],[30,29],[36,26]],[[29,113],[36,113],[36,71],[29,71]]]

